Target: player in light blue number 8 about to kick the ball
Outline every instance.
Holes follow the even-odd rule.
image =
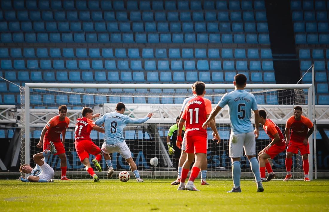
[[[143,182],[139,176],[136,163],[131,157],[131,152],[129,147],[126,144],[126,141],[123,137],[123,129],[127,124],[141,124],[149,120],[153,113],[147,114],[145,118],[133,119],[123,113],[126,110],[126,106],[119,102],[115,106],[115,112],[106,113],[100,119],[97,119],[95,124],[101,126],[104,123],[105,135],[104,143],[102,145],[102,152],[106,164],[109,168],[107,177],[112,177],[114,172],[112,167],[112,161],[110,153],[120,153],[122,157],[129,163],[131,171],[134,173],[137,182]]]

